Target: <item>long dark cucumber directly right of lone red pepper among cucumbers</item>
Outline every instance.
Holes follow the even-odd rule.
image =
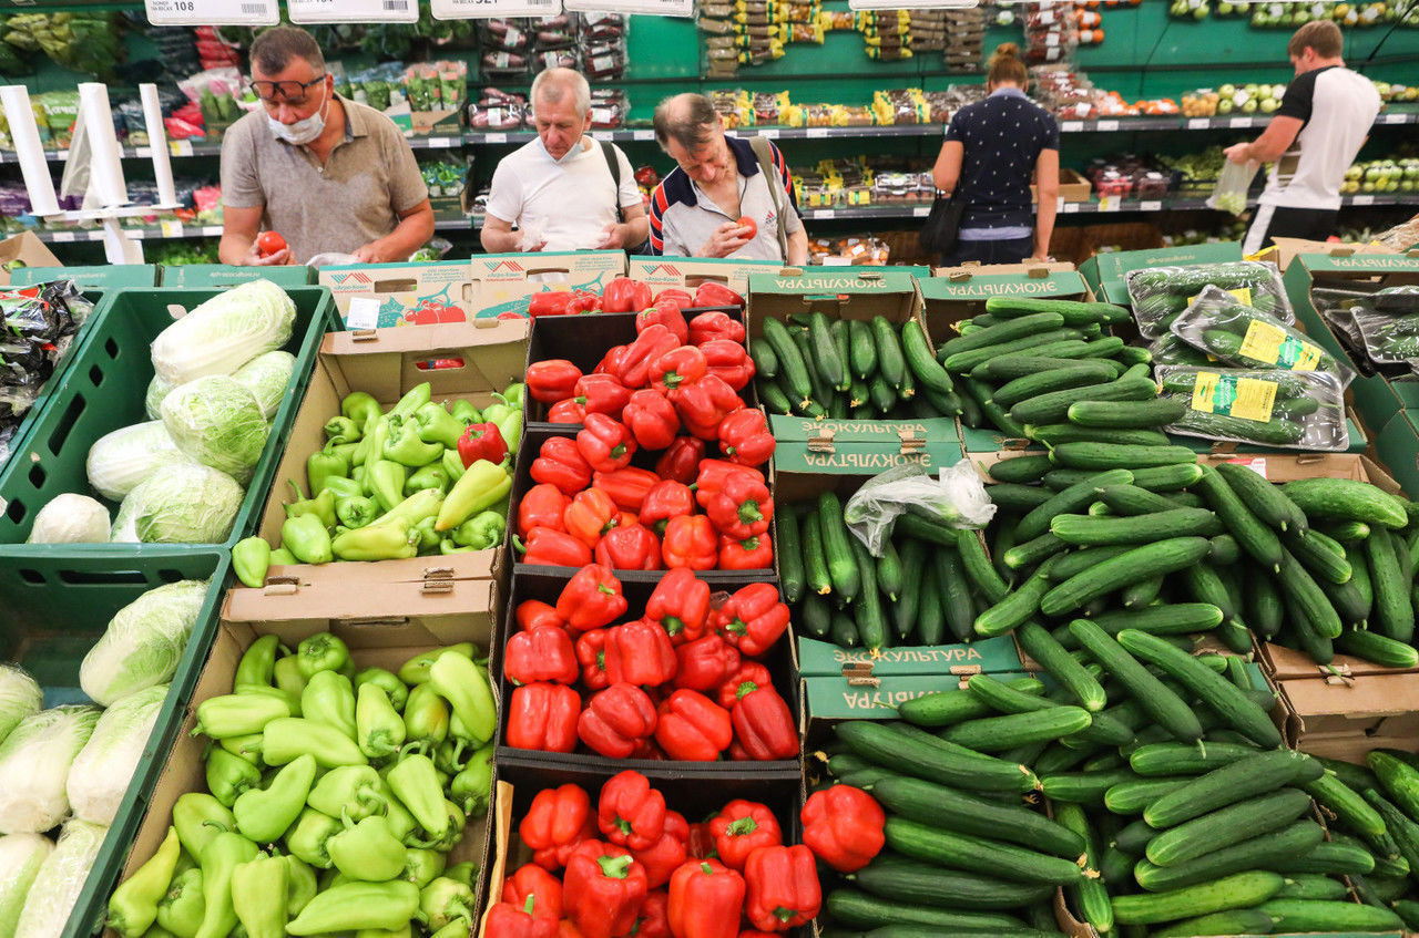
[[[905,818],[888,818],[883,835],[887,846],[897,853],[949,870],[982,873],[1012,883],[1056,886],[1084,878],[1084,870],[1073,860],[1026,850],[1000,840],[931,827]]]

